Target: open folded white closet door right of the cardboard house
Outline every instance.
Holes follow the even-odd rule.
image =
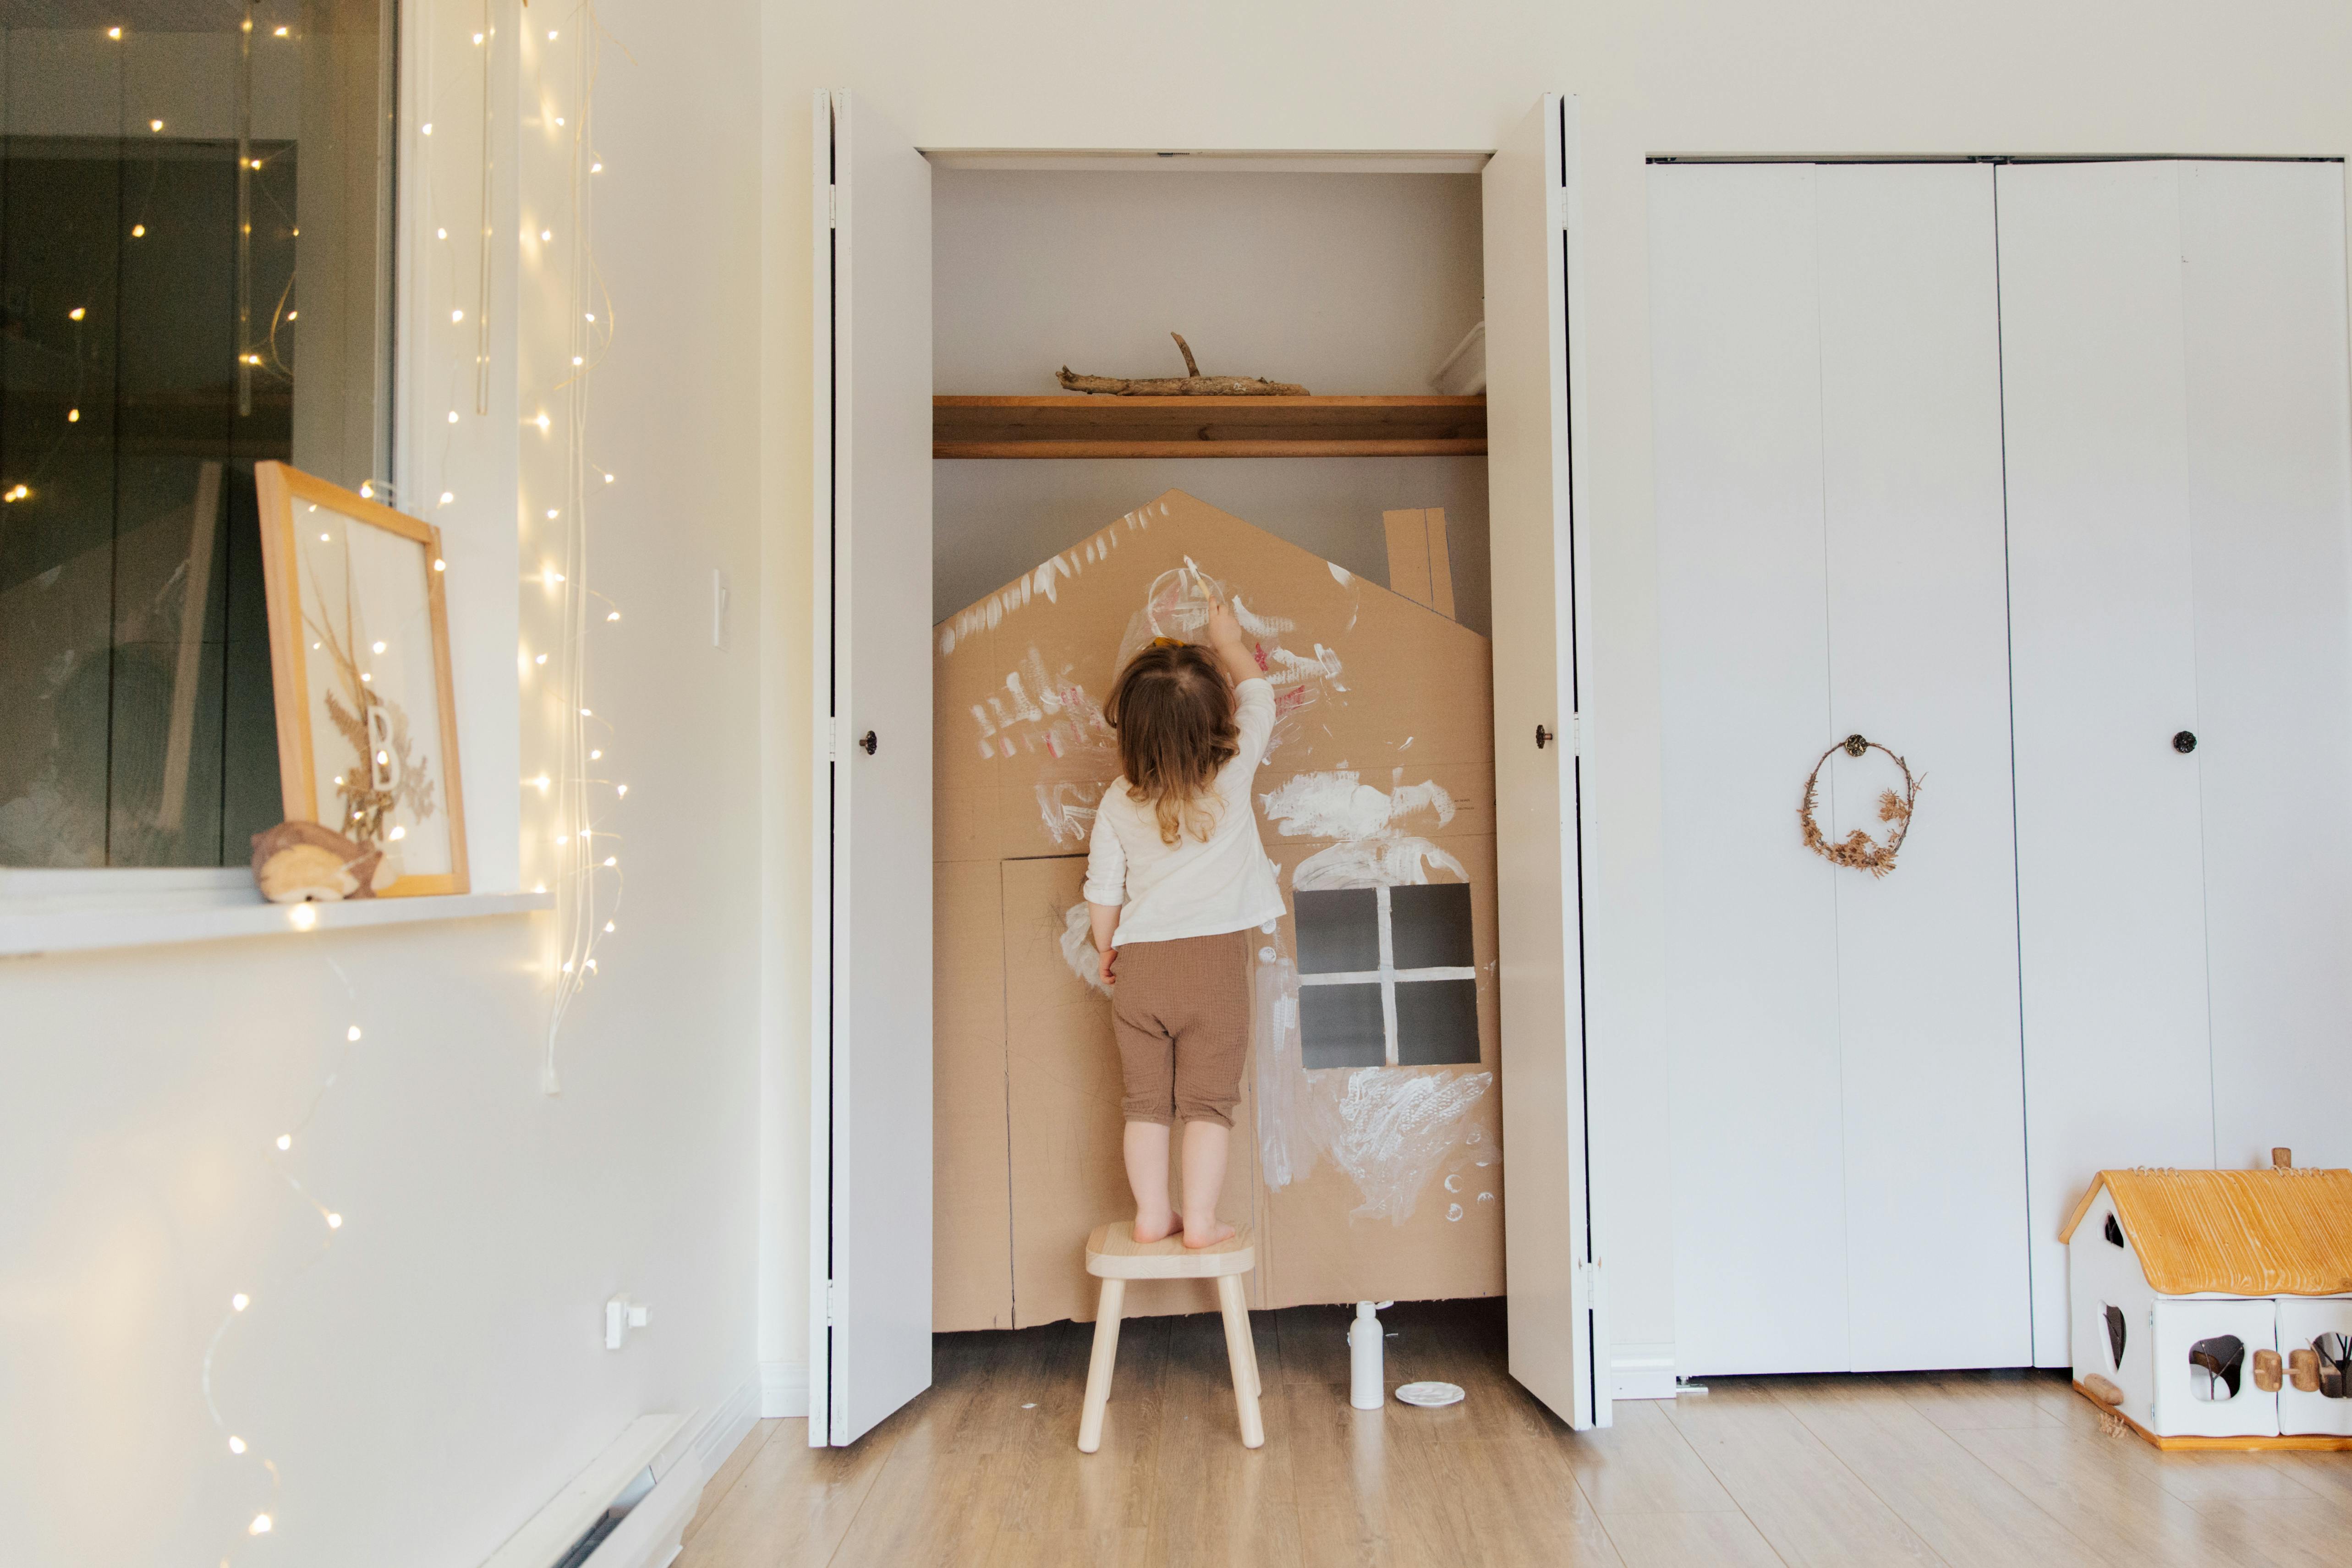
[[[1545,94],[1482,176],[1510,1375],[1611,1425],[1585,1164],[1583,769],[1590,679],[1576,461],[1583,320],[1576,99]]]

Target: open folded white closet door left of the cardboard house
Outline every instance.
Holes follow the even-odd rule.
[[[931,165],[816,96],[809,1443],[931,1385]]]

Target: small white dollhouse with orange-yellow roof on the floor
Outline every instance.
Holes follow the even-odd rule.
[[[2157,1448],[2352,1448],[2352,1171],[2100,1171],[2074,1387]]]

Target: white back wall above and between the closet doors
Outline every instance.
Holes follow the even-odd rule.
[[[769,226],[767,578],[807,609],[809,115],[851,87],[931,148],[1491,148],[1545,89],[1583,99],[1592,604],[1599,618],[1590,971],[1592,1131],[1618,1345],[1672,1340],[1661,1159],[1658,632],[1649,458],[1644,155],[2352,150],[2352,9],[2338,0],[1969,12],[1813,0],[1491,7],[1218,0],[1183,19],[1080,0],[774,7],[764,19]],[[786,778],[804,776],[804,654],[771,663]],[[800,804],[795,802],[797,811]],[[797,820],[797,818],[795,818]],[[804,910],[779,842],[771,896]],[[800,947],[771,983],[804,985]],[[797,969],[795,969],[797,964]],[[804,1084],[797,1013],[769,1037]],[[795,1077],[797,1074],[797,1077]],[[804,1114],[795,1103],[793,1114]],[[790,1117],[786,1119],[790,1124]],[[797,1171],[800,1166],[793,1166]],[[804,1213],[804,1194],[774,1194]],[[800,1225],[793,1218],[793,1225]],[[800,1246],[797,1232],[790,1237]],[[786,1251],[786,1260],[800,1251]],[[788,1269],[790,1272],[790,1269]],[[804,1293],[776,1333],[804,1335]]]

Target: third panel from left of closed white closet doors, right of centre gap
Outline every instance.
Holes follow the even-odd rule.
[[[2034,1359],[2100,1166],[2213,1161],[2180,167],[1997,176]]]

